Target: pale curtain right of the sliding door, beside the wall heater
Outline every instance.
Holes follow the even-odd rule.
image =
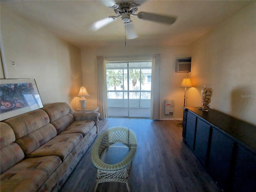
[[[160,119],[160,54],[152,56],[150,119]]]

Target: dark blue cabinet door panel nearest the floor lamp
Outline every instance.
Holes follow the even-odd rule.
[[[194,150],[194,138],[196,129],[196,116],[188,113],[186,124],[186,142]]]

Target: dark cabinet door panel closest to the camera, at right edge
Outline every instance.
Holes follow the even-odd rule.
[[[237,150],[232,191],[256,191],[256,155],[239,145]]]

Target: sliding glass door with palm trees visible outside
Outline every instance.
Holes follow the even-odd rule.
[[[107,62],[109,117],[150,117],[151,61]]]

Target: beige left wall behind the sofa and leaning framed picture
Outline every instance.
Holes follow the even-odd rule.
[[[43,104],[76,107],[82,85],[80,49],[1,6],[6,78],[34,78]],[[11,64],[14,61],[15,64]],[[3,78],[1,66],[1,78]]]

